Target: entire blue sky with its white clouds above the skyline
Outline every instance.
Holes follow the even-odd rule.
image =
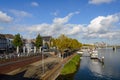
[[[0,0],[0,33],[120,44],[119,5],[120,0]]]

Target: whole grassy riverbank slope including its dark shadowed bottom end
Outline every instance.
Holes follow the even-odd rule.
[[[80,63],[80,57],[82,55],[77,54],[68,63],[66,63],[61,70],[61,74],[56,80],[73,80],[74,73],[77,71]]]

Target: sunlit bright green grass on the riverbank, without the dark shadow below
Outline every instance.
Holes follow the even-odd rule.
[[[61,75],[67,75],[76,72],[77,66],[80,62],[80,56],[81,55],[79,54],[74,56],[67,64],[65,64],[61,70]]]

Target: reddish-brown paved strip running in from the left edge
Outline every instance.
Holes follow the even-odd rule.
[[[34,57],[30,57],[30,58],[23,59],[23,60],[20,59],[17,61],[12,61],[12,62],[0,64],[0,73],[5,74],[8,72],[11,72],[15,69],[18,69],[20,67],[24,67],[24,66],[31,64],[33,62],[36,62],[38,60],[41,60],[41,56],[34,56]]]

